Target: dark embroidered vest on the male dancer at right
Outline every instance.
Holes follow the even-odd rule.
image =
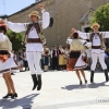
[[[102,50],[105,50],[106,49],[106,46],[105,46],[105,43],[104,43],[102,33],[97,33],[97,35],[100,38],[100,43],[101,43],[100,48]],[[95,36],[95,33],[90,33],[90,37],[89,37],[90,43],[93,43],[94,36]]]

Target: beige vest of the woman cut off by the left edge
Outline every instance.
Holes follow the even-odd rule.
[[[12,44],[8,37],[7,40],[0,43],[0,50],[12,50]]]

